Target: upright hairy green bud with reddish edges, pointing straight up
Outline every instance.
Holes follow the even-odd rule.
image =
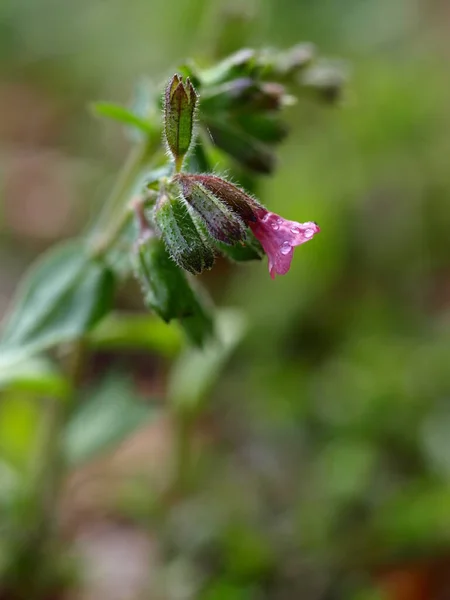
[[[196,105],[197,93],[189,77],[183,82],[179,75],[174,75],[164,95],[164,130],[178,167],[191,145]]]

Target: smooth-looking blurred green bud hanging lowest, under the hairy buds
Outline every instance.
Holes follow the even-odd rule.
[[[212,317],[162,240],[155,235],[141,237],[133,263],[145,304],[166,322],[178,319],[190,340],[200,345],[212,333]]]

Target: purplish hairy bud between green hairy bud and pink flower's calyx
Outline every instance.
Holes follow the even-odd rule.
[[[211,237],[230,245],[245,238],[246,228],[240,216],[205,187],[198,176],[180,173],[176,181],[184,199],[205,223]]]

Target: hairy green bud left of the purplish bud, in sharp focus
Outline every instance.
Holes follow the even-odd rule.
[[[194,275],[211,269],[213,250],[197,228],[183,198],[172,198],[162,192],[155,206],[154,219],[178,266]]]

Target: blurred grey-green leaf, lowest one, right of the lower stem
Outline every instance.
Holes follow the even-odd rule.
[[[63,438],[71,465],[79,465],[106,452],[148,422],[153,406],[138,398],[130,379],[106,377],[72,415]]]

